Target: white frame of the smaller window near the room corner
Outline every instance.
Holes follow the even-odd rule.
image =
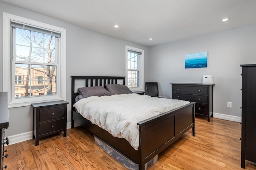
[[[131,87],[129,88],[132,92],[140,92],[144,91],[144,50],[143,49],[138,49],[135,47],[130,47],[126,45],[125,47],[125,69],[126,69],[126,78],[125,78],[125,84],[126,86],[128,85],[128,50],[131,51],[138,51],[142,53],[139,58],[139,87]]]

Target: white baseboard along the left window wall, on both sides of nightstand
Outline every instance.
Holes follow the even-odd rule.
[[[67,129],[70,129],[70,128],[71,128],[71,122],[68,122],[67,123]],[[33,138],[33,131],[8,136],[8,139],[10,140],[9,145],[12,145],[14,143],[27,141],[27,140],[30,140],[32,138]]]

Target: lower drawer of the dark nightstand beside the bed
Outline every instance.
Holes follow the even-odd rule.
[[[64,118],[39,124],[39,135],[64,130]]]

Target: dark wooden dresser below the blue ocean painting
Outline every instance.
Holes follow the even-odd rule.
[[[172,99],[196,102],[196,116],[213,117],[213,86],[215,84],[172,83]]]

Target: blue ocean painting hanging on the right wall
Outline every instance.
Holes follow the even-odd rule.
[[[185,68],[207,67],[207,52],[185,55]]]

